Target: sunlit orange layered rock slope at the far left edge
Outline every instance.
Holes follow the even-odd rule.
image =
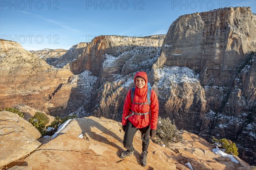
[[[70,70],[53,68],[17,42],[0,44],[0,109],[25,104],[48,114],[65,107],[73,87]]]

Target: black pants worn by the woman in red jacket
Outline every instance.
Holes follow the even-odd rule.
[[[132,142],[137,130],[138,129],[134,125],[132,125],[130,121],[127,120],[123,144],[124,147],[129,151],[132,151],[134,149]],[[140,128],[139,130],[141,132],[142,151],[148,151],[150,125]]]

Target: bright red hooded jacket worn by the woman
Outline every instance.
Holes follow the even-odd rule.
[[[148,91],[148,77],[147,74],[143,71],[138,72],[134,76],[134,83],[136,77],[143,77],[145,79],[145,86],[141,89],[137,87],[135,84],[135,91],[134,91],[134,102],[137,103],[145,103],[148,102],[147,99],[147,91]],[[128,120],[137,128],[142,128],[150,125],[151,129],[157,129],[157,119],[158,119],[158,99],[155,91],[151,90],[151,119],[149,114],[146,116],[144,115],[132,115],[128,118]],[[128,94],[125,98],[125,104],[123,108],[123,114],[122,114],[122,125],[126,125],[127,119],[125,119],[126,116],[132,113],[132,111],[137,113],[147,113],[150,110],[150,105],[140,105],[140,104],[134,104],[131,102],[131,89],[128,91]]]

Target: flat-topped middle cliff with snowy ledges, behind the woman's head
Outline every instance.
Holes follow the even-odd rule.
[[[70,70],[74,74],[89,70],[94,76],[111,78],[113,74],[129,74],[136,71],[135,69],[131,70],[131,67],[126,69],[128,65],[134,65],[138,69],[150,68],[151,65],[143,65],[142,62],[145,59],[156,61],[157,58],[154,57],[160,50],[163,38],[164,36],[160,36],[160,38],[96,37],[87,46],[81,57],[70,62]]]

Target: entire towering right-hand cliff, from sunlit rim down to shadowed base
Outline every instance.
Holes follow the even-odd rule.
[[[174,118],[178,127],[203,136],[226,137],[243,145],[241,156],[254,164],[255,51],[256,15],[250,8],[224,8],[179,17],[170,26],[153,68],[156,72],[180,66],[198,74],[198,88],[195,83],[189,84],[192,95],[186,93],[189,88],[184,83],[169,91],[160,88],[170,96],[160,99],[165,106],[161,111]],[[192,107],[186,109],[189,103]]]

